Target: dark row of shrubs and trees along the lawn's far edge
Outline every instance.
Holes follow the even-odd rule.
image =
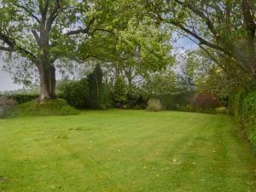
[[[97,63],[90,73],[82,73],[78,79],[59,80],[56,84],[56,96],[79,109],[146,109],[154,101],[154,111],[157,108],[156,111],[215,113],[216,108],[226,104],[210,91],[197,91],[195,84],[189,83],[184,75],[175,71],[177,70],[170,67],[144,76],[135,73],[129,82],[124,69],[119,68],[119,73],[115,71],[109,75],[106,63]],[[38,90],[17,90],[6,92],[5,95],[18,103],[24,103],[36,100]]]

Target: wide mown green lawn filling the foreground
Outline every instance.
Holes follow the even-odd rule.
[[[229,116],[108,110],[0,119],[1,192],[253,192]]]

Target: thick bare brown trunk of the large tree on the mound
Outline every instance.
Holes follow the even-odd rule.
[[[41,63],[38,65],[40,78],[39,101],[55,98],[55,67],[54,65]]]

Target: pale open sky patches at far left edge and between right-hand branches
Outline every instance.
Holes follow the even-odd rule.
[[[180,38],[176,44],[174,44],[175,49],[195,49],[196,44],[189,40],[188,38]],[[18,90],[22,89],[22,84],[14,84],[11,75],[3,71],[3,61],[0,60],[0,91],[4,90]]]

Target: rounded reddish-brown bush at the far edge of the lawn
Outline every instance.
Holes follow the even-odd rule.
[[[195,111],[214,112],[219,107],[218,97],[207,91],[201,92],[195,95],[192,105]]]

